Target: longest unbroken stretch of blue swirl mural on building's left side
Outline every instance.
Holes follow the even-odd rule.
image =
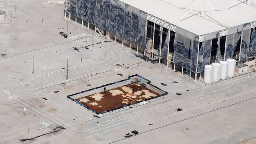
[[[70,0],[70,13],[146,49],[147,13],[119,0]]]

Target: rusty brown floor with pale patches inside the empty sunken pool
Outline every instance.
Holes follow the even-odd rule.
[[[95,93],[76,99],[96,113],[109,111],[127,104],[139,102],[159,94],[146,88],[144,84],[128,84],[105,92]]]

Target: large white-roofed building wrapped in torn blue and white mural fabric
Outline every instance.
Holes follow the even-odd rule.
[[[255,0],[66,0],[65,14],[195,80],[256,56]]]

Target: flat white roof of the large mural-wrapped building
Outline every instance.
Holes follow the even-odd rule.
[[[256,0],[122,0],[197,35],[254,22]],[[201,17],[202,6],[204,3]]]

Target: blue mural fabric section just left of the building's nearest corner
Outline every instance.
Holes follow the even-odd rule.
[[[174,63],[196,73],[199,36],[177,27],[174,48]]]

